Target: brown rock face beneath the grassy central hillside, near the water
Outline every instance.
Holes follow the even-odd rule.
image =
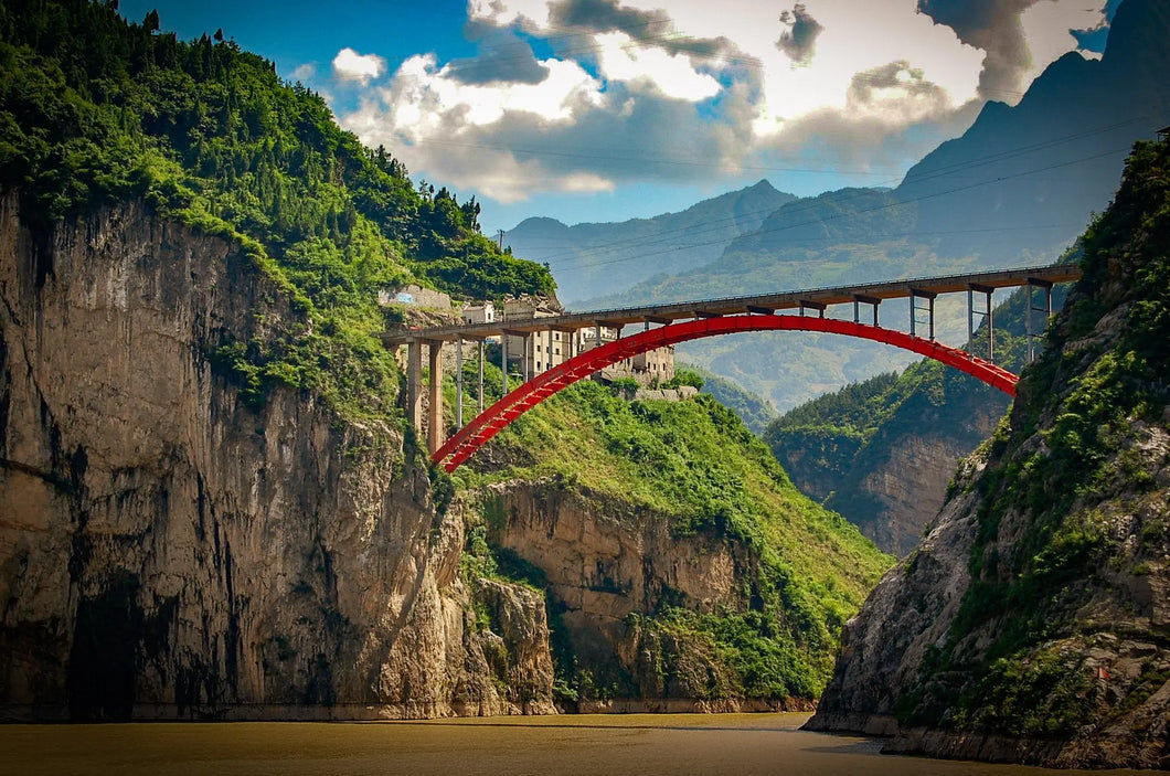
[[[600,691],[583,712],[797,709],[797,699],[736,698],[716,660],[681,633],[642,627],[663,605],[697,612],[748,606],[750,551],[672,519],[563,482],[511,481],[480,494],[488,536],[538,570],[577,666]],[[667,667],[668,666],[668,667]],[[713,696],[713,688],[718,688]],[[717,700],[716,700],[717,698]]]

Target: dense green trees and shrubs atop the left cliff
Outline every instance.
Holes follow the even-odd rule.
[[[122,199],[235,241],[284,289],[295,320],[208,355],[259,405],[282,383],[347,413],[386,413],[398,378],[377,341],[378,290],[417,281],[484,298],[549,293],[544,267],[480,233],[479,205],[413,185],[324,99],[234,41],[183,42],[116,2],[0,6],[0,187],[43,239]],[[259,313],[259,311],[257,311]]]

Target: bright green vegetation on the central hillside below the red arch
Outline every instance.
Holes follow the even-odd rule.
[[[603,494],[669,516],[677,537],[702,534],[742,552],[738,605],[701,613],[663,597],[627,623],[661,655],[663,675],[689,661],[709,667],[708,679],[687,684],[698,698],[814,699],[841,626],[890,563],[801,495],[743,421],[703,394],[627,401],[577,383],[522,416],[455,478],[467,487],[518,479]],[[579,686],[581,669],[597,671],[578,668],[563,679]],[[606,679],[618,694],[662,692],[645,678],[641,687],[629,675]]]

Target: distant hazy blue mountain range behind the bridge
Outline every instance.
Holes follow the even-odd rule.
[[[1170,4],[1124,0],[1101,60],[1067,54],[1016,107],[987,103],[895,190],[797,199],[760,181],[648,220],[529,219],[509,240],[517,255],[549,262],[576,309],[1047,263],[1108,205],[1133,143],[1170,124],[1168,62]],[[964,336],[965,318],[943,330]],[[881,345],[806,335],[679,350],[780,410],[908,363]]]

